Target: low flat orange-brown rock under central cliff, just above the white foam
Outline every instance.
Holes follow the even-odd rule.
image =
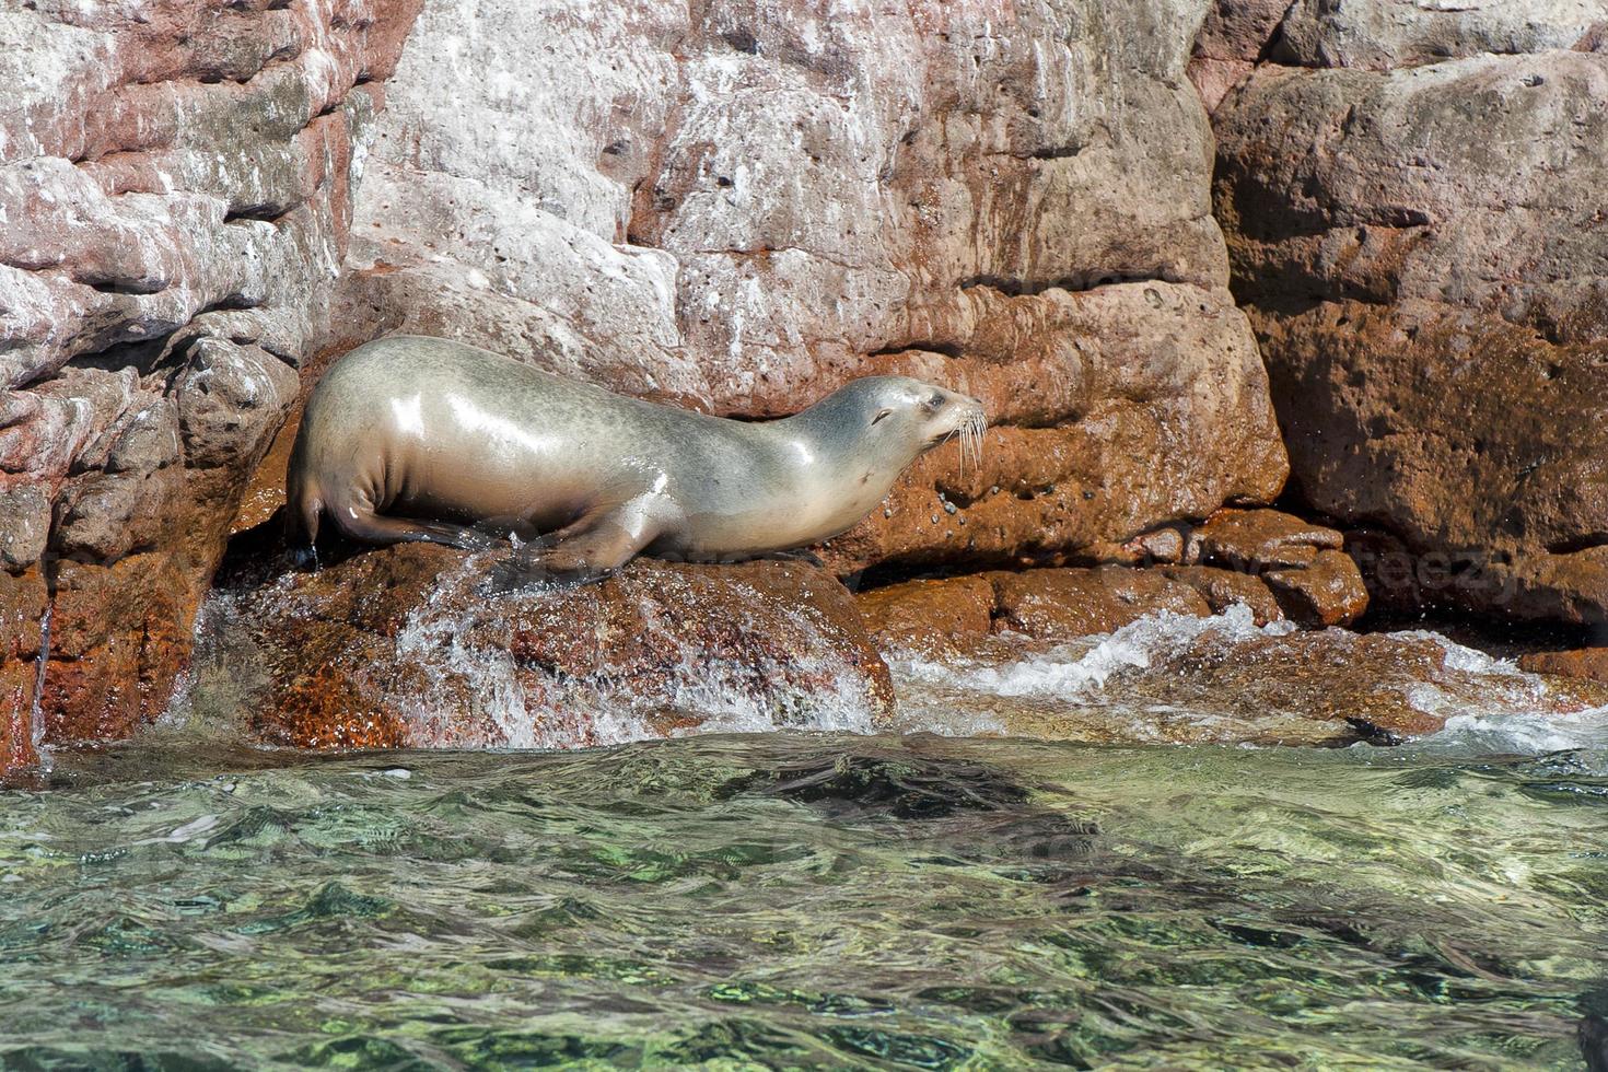
[[[1211,614],[1193,587],[1161,571],[1111,566],[995,572],[987,577],[999,601],[994,628],[1040,640],[1110,633],[1153,611]]]

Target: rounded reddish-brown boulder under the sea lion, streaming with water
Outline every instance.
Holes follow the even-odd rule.
[[[191,704],[301,747],[870,730],[891,712],[888,669],[818,567],[635,559],[597,585],[495,593],[503,558],[405,545],[232,588]]]

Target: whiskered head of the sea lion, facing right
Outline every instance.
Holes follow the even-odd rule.
[[[902,469],[933,447],[960,437],[960,460],[982,460],[987,416],[968,395],[909,376],[867,376],[828,400],[839,436],[873,453],[897,458]]]

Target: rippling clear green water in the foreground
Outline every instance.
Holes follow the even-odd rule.
[[[1603,751],[174,752],[0,794],[0,1067],[1577,1069],[1608,1011]]]

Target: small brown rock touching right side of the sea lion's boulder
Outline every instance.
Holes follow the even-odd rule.
[[[978,575],[888,585],[859,593],[854,603],[881,651],[963,653],[994,622],[994,585]]]

